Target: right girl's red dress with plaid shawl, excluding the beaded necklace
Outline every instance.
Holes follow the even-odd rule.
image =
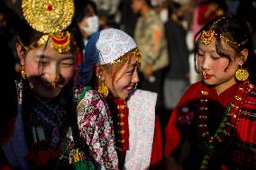
[[[198,103],[202,97],[201,82],[191,85],[172,112],[165,130],[166,141],[164,156],[174,156],[184,140],[190,144],[189,153],[183,162],[183,169],[200,169],[206,148],[202,136],[198,135]],[[233,102],[238,84],[231,86],[222,94],[208,88],[210,104],[207,126],[210,133],[219,128],[220,120],[226,108]],[[243,97],[239,119],[234,135],[220,143],[211,155],[207,169],[255,169],[256,168],[256,88],[250,85],[248,94]],[[242,158],[243,157],[243,158]],[[246,157],[246,159],[245,159]]]

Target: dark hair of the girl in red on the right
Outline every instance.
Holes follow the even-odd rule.
[[[199,36],[203,31],[215,31],[215,49],[220,57],[228,58],[229,65],[232,62],[232,58],[221,44],[221,40],[225,40],[226,43],[236,52],[238,55],[242,49],[248,49],[248,58],[242,67],[248,69],[250,73],[251,83],[255,82],[256,72],[253,68],[256,67],[256,56],[253,50],[253,43],[251,38],[251,32],[248,24],[236,15],[221,15],[214,20],[207,22],[206,25],[197,32],[195,36],[195,67],[197,70],[197,49],[199,43]],[[222,38],[222,36],[224,38]],[[226,67],[227,68],[227,67]],[[198,70],[197,70],[198,71]]]

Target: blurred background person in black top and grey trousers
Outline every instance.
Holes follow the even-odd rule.
[[[168,7],[169,21],[165,24],[165,35],[168,44],[169,66],[164,74],[164,106],[166,119],[172,112],[180,97],[189,85],[189,65],[186,35],[187,31],[181,25],[181,4],[171,3]],[[167,123],[167,122],[165,122]]]

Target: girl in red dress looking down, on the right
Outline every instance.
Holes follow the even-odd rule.
[[[183,169],[256,168],[255,60],[251,32],[236,16],[222,15],[197,33],[202,81],[172,112],[165,130],[167,165],[187,141]]]

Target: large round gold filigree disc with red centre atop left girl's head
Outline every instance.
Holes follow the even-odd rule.
[[[26,21],[43,33],[65,30],[75,12],[73,0],[23,0],[22,7]]]

